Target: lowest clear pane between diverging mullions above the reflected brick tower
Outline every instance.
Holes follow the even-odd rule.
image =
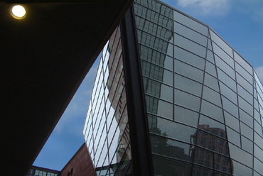
[[[218,121],[224,122],[222,109],[218,106],[210,104],[208,101],[202,100],[201,113]]]

